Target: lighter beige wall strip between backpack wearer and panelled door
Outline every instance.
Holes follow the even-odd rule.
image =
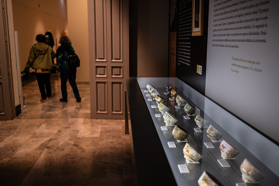
[[[87,0],[68,0],[68,32],[80,58],[76,82],[89,82],[88,9]]]

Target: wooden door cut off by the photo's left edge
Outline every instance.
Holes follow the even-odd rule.
[[[11,120],[15,117],[15,103],[10,69],[8,46],[8,29],[5,2],[2,0],[0,14],[0,120]]]

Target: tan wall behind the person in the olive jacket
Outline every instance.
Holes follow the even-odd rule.
[[[65,0],[12,0],[14,30],[18,31],[20,66],[24,69],[30,48],[37,34],[51,31],[54,51],[62,30],[67,30],[67,3]],[[40,7],[39,7],[40,5]]]

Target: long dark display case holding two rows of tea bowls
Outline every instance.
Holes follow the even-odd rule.
[[[152,90],[166,102],[158,105]],[[278,184],[279,146],[180,79],[127,78],[126,96],[139,185],[151,177],[177,185],[213,178],[218,185]]]

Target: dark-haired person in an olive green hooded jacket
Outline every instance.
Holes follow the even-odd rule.
[[[31,47],[29,57],[24,72],[29,72],[30,67],[35,69],[40,93],[41,102],[51,100],[50,70],[52,69],[52,59],[55,58],[55,52],[45,44],[45,36],[39,34],[36,36],[37,43]]]

